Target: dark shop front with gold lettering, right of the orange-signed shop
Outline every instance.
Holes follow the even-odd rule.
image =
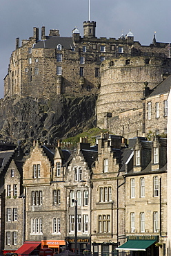
[[[74,237],[66,237],[68,249],[74,253],[75,239]],[[78,237],[77,238],[77,252],[79,255],[85,255],[86,252],[90,252],[90,237]]]

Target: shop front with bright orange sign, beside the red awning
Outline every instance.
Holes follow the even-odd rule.
[[[61,253],[66,248],[64,240],[41,240],[41,248],[51,248],[54,253]]]

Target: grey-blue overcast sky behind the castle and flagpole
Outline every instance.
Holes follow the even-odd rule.
[[[83,35],[83,21],[88,20],[89,0],[1,0],[0,1],[0,98],[3,78],[15,49],[16,37],[28,39],[33,27],[59,29],[61,36],[72,35],[77,26]],[[90,19],[97,21],[97,37],[126,35],[131,29],[134,40],[143,45],[171,42],[171,0],[90,0]]]

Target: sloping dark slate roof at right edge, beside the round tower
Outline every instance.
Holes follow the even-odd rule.
[[[165,80],[163,80],[160,84],[158,84],[154,88],[154,91],[152,91],[152,93],[148,96],[148,98],[154,95],[168,93],[170,91],[170,86],[171,86],[171,75],[169,75]]]

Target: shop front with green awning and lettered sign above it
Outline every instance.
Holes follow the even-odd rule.
[[[117,250],[120,252],[130,252],[131,256],[159,256],[159,247],[155,246],[159,237],[154,235],[128,236],[125,244]]]

